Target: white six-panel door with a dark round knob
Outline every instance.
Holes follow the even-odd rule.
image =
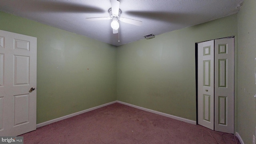
[[[35,129],[36,38],[0,30],[0,136]]]

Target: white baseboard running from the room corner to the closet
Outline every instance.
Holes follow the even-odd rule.
[[[166,116],[166,117],[168,117],[168,118],[173,118],[173,119],[175,119],[175,120],[180,120],[180,121],[182,121],[182,122],[186,122],[186,123],[189,123],[189,124],[195,124],[195,125],[196,125],[196,121],[194,121],[194,120],[188,120],[188,119],[186,119],[186,118],[180,118],[180,117],[178,117],[178,116],[172,116],[172,115],[170,115],[170,114],[165,114],[165,113],[158,112],[158,111],[155,111],[155,110],[150,110],[150,109],[147,109],[147,108],[142,108],[142,107],[140,107],[140,106],[135,106],[135,105],[133,105],[133,104],[128,104],[128,103],[126,103],[126,102],[120,102],[120,101],[117,101],[117,102],[120,103],[120,104],[125,104],[125,105],[127,105],[127,106],[131,106],[131,107],[134,107],[134,108],[138,108],[138,109],[140,109],[140,110],[144,110],[144,111],[147,111],[147,112],[152,112],[152,113],[154,113],[154,114],[159,114],[159,115],[161,115],[161,116]]]

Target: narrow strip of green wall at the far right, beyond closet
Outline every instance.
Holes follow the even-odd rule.
[[[238,133],[252,143],[256,126],[256,0],[238,12]]]

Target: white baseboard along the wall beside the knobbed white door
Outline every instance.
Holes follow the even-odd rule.
[[[47,122],[42,122],[42,123],[40,123],[40,124],[36,124],[36,128],[39,128],[39,127],[41,127],[41,126],[46,126],[47,124],[51,124],[51,123],[54,123],[54,122],[58,122],[58,121],[60,121],[60,120],[66,119],[66,118],[71,118],[72,116],[76,116],[76,115],[78,115],[78,114],[83,114],[83,113],[89,112],[89,111],[91,111],[91,110],[96,110],[97,108],[101,108],[101,107],[104,107],[104,106],[108,106],[108,105],[114,104],[114,103],[116,103],[116,102],[117,102],[117,100],[114,101],[114,102],[109,102],[109,103],[107,103],[107,104],[102,104],[102,105],[100,105],[100,106],[96,106],[96,107],[93,107],[93,108],[89,108],[89,109],[87,109],[87,110],[82,110],[82,111],[80,111],[80,112],[76,112],[76,113],[73,113],[73,114],[69,114],[69,115],[66,115],[66,116],[62,116],[62,117],[60,117],[60,118],[55,118],[55,119],[49,120],[49,121],[47,121]]]

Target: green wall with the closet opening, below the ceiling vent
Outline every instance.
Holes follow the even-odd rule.
[[[237,36],[237,15],[118,46],[117,100],[196,121],[195,43]]]

